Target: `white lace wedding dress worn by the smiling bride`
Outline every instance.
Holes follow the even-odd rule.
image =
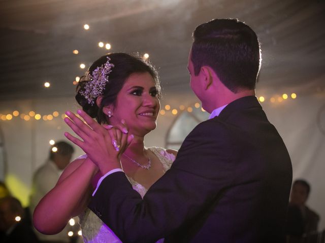
[[[149,149],[159,158],[161,164],[163,164],[164,172],[169,170],[175,159],[175,155],[166,152],[164,148],[150,147]],[[147,189],[145,187],[132,178],[128,178],[128,180],[132,184],[133,189],[139,192],[142,197],[146,194]],[[85,243],[122,242],[114,232],[88,208],[79,215],[79,224]],[[159,239],[157,242],[164,242],[164,239]]]

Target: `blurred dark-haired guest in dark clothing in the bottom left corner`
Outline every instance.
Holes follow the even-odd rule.
[[[25,221],[20,201],[12,196],[0,199],[0,235],[2,243],[39,242],[31,226]]]

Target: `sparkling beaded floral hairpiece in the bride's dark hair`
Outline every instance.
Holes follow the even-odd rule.
[[[114,67],[113,63],[110,63],[110,58],[107,57],[107,62],[100,67],[96,67],[95,70],[90,74],[89,71],[85,73],[86,79],[88,80],[85,90],[80,91],[80,94],[88,100],[88,104],[93,105],[95,99],[103,94],[105,86],[108,83],[108,74]]]

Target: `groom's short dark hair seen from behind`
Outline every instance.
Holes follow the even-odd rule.
[[[202,66],[209,66],[234,93],[255,88],[261,49],[248,25],[237,19],[213,19],[199,25],[193,39],[191,61],[196,76]]]

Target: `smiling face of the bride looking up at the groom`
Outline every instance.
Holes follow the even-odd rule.
[[[154,130],[160,109],[157,93],[150,73],[131,74],[117,95],[110,123],[114,125],[124,119],[130,132],[137,136]]]

